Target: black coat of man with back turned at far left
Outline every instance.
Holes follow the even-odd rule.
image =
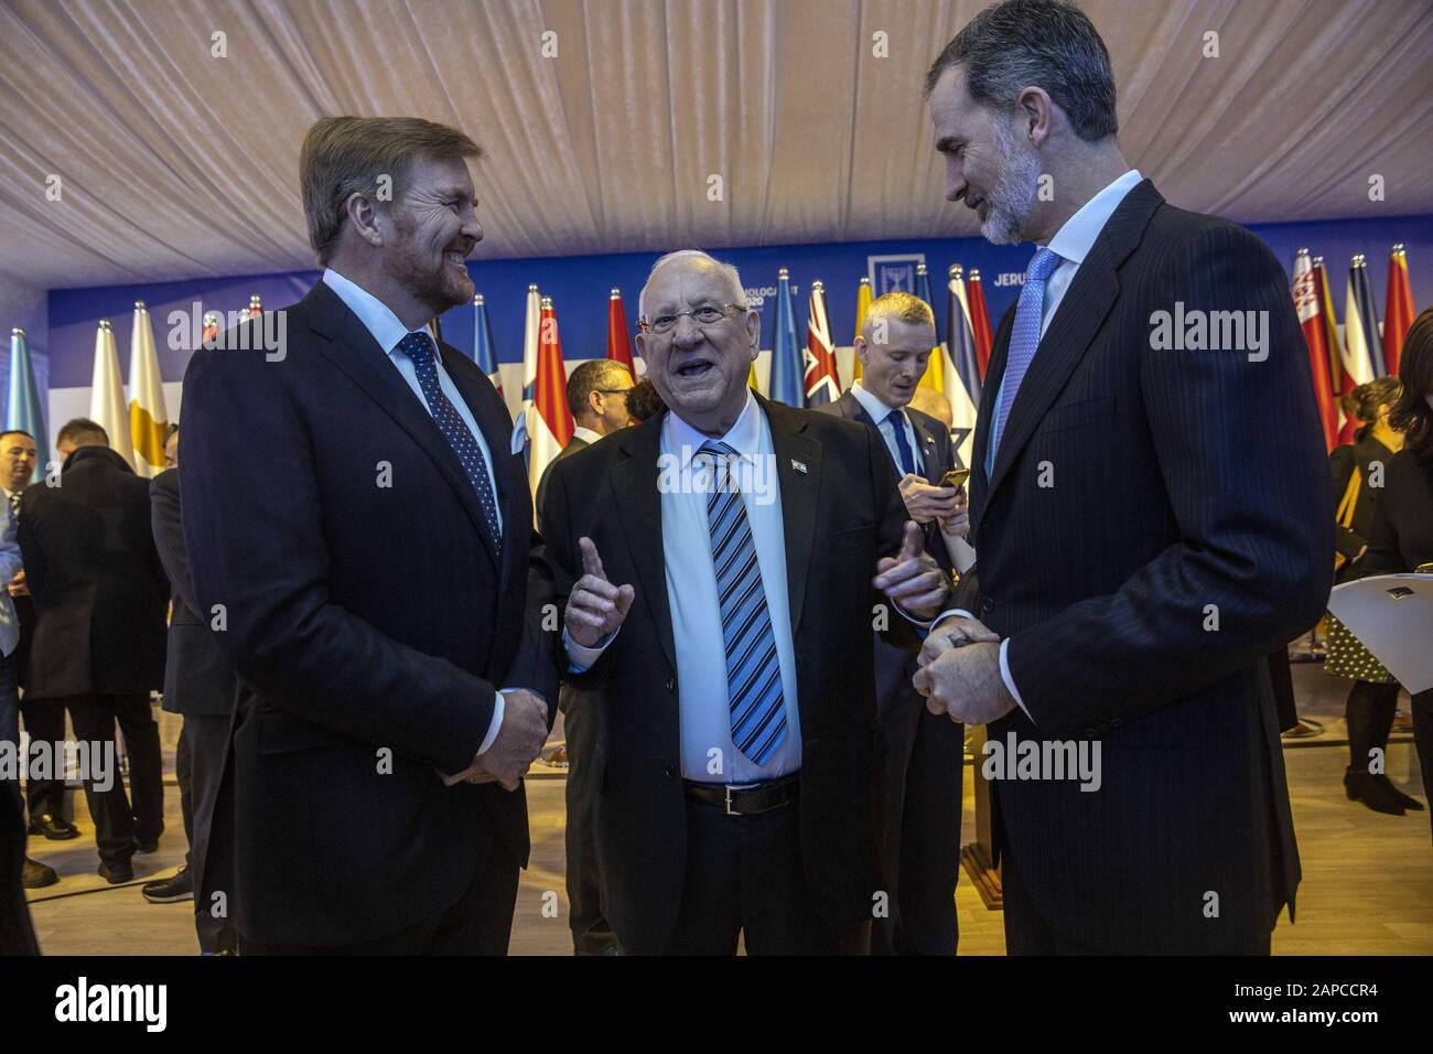
[[[165,579],[149,483],[106,446],[72,453],[59,486],[20,499],[34,598],[26,697],[148,693],[165,681]]]

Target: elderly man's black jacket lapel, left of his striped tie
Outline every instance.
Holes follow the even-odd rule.
[[[662,420],[659,413],[651,420],[626,429],[622,435],[625,459],[616,462],[609,476],[618,522],[626,539],[628,556],[641,579],[638,598],[646,604],[666,661],[676,668],[676,645],[672,641],[672,609],[666,601],[666,556],[662,549],[662,493],[658,489],[656,459],[662,449]],[[623,512],[625,511],[625,512]]]

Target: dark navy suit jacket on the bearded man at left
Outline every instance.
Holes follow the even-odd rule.
[[[520,790],[434,771],[471,764],[497,688],[557,701],[512,419],[470,359],[438,350],[492,450],[500,543],[433,417],[325,284],[287,308],[281,354],[201,350],[185,374],[183,533],[198,609],[224,605],[215,640],[241,680],[226,780],[254,941],[377,939],[453,905],[493,853],[527,860]]]

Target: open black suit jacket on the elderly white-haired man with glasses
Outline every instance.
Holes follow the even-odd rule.
[[[906,509],[870,429],[768,403],[801,714],[801,852],[811,902],[833,926],[871,918],[878,733],[871,625],[876,562],[900,548]],[[622,631],[592,670],[602,685],[595,764],[602,906],[625,948],[661,952],[686,872],[676,648],[668,608],[658,455],[665,412],[556,462],[543,528],[559,591],[582,575],[580,536],[608,578],[636,587]],[[795,466],[804,466],[804,472]],[[891,611],[894,640],[916,647]],[[718,640],[719,647],[719,640]]]

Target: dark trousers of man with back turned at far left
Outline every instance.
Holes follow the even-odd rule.
[[[165,829],[165,787],[159,757],[159,726],[149,706],[149,693],[123,695],[72,695],[64,700],[75,726],[75,739],[87,743],[90,756],[105,743],[115,743],[115,721],[125,736],[129,757],[129,786],[133,806],[125,794],[125,780],[110,773],[107,790],[95,783],[95,771],[85,771],[85,797],[95,822],[99,856],[110,865],[128,863],[135,855],[135,840],[158,842]],[[115,753],[118,761],[118,751]],[[92,764],[90,769],[95,766]]]

